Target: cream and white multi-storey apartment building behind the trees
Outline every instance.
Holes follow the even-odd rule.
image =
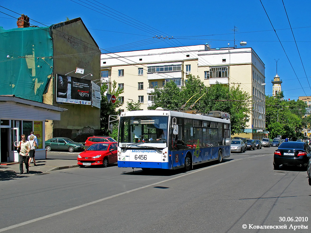
[[[101,85],[110,88],[115,80],[124,89],[119,96],[126,111],[127,102],[139,101],[146,110],[152,104],[155,86],[174,81],[183,86],[190,74],[205,85],[216,82],[240,85],[248,92],[252,114],[244,136],[261,139],[265,130],[265,66],[252,48],[211,48],[208,44],[157,48],[101,54]]]

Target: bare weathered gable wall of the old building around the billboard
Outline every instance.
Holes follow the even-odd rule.
[[[46,124],[46,139],[68,137],[84,142],[90,135],[100,133],[100,109],[91,105],[56,103],[56,75],[65,75],[83,68],[84,74],[71,72],[70,76],[87,80],[100,79],[100,50],[80,18],[52,25],[53,38],[53,80],[44,103],[66,108],[60,121]],[[87,75],[87,74],[92,74]]]

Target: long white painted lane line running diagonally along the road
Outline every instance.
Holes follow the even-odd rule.
[[[258,156],[254,156],[254,157],[251,157],[251,158],[262,157],[262,156],[265,156],[265,155],[271,155],[271,154],[263,154],[263,155],[258,155]],[[109,197],[101,198],[101,199],[98,199],[98,200],[95,200],[95,201],[92,201],[92,202],[89,202],[89,203],[85,203],[83,205],[78,205],[78,206],[75,206],[75,207],[72,207],[72,208],[69,208],[69,209],[61,210],[61,211],[58,211],[58,212],[55,212],[55,213],[52,213],[52,214],[48,214],[48,215],[45,215],[45,216],[42,216],[42,217],[38,217],[38,218],[35,218],[35,219],[32,219],[32,220],[28,220],[26,222],[17,223],[17,224],[12,225],[12,226],[7,226],[7,227],[4,227],[4,228],[1,228],[0,232],[12,230],[12,229],[14,229],[16,227],[19,227],[19,226],[24,226],[24,225],[27,225],[27,224],[30,224],[30,223],[34,223],[34,222],[37,222],[37,221],[49,218],[49,217],[57,216],[57,215],[62,214],[62,213],[67,213],[67,212],[72,211],[72,210],[76,210],[76,209],[79,209],[79,208],[82,208],[82,207],[93,205],[93,204],[99,203],[101,201],[105,201],[105,200],[108,200],[108,199],[111,199],[111,198],[114,198],[114,197],[121,196],[123,194],[128,194],[128,193],[131,193],[131,192],[135,192],[137,190],[141,190],[141,189],[145,189],[145,188],[148,188],[148,187],[151,187],[151,186],[159,185],[159,184],[164,183],[166,181],[174,180],[174,179],[177,179],[177,178],[180,178],[180,177],[183,177],[183,176],[187,176],[187,175],[199,172],[199,171],[204,171],[204,170],[206,170],[208,168],[211,168],[211,167],[217,167],[217,166],[220,166],[220,165],[228,164],[230,162],[239,161],[239,160],[248,159],[248,158],[249,157],[233,159],[233,160],[230,160],[230,161],[225,162],[225,163],[218,163],[218,164],[215,164],[215,165],[212,165],[212,166],[209,166],[209,167],[203,167],[203,168],[200,168],[198,170],[191,171],[191,172],[185,173],[185,174],[180,175],[180,176],[175,176],[175,177],[169,178],[167,180],[162,180],[162,181],[150,184],[150,185],[145,185],[145,186],[142,186],[142,187],[139,187],[139,188],[136,188],[136,189],[132,189],[132,190],[128,190],[128,191],[125,191],[125,192],[122,192],[122,193],[119,193],[119,194],[114,194],[114,195],[111,195]]]

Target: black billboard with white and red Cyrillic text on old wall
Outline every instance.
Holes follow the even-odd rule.
[[[56,75],[56,102],[91,105],[91,81]]]

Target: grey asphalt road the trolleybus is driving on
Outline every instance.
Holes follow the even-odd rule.
[[[310,232],[307,173],[273,170],[274,150],[186,173],[114,165],[2,181],[0,232]]]

